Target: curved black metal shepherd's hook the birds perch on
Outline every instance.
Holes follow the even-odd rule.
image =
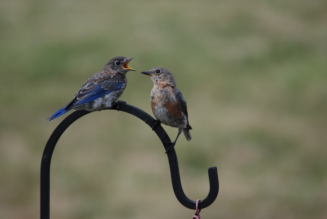
[[[128,105],[126,103],[118,101],[110,110],[118,110],[124,111],[129,114],[132,114],[141,120],[143,120],[148,126],[153,127],[155,125],[156,120],[151,117],[148,113],[143,110],[140,110],[134,106]],[[70,126],[74,121],[78,118],[90,113],[90,111],[86,110],[77,110],[67,116],[53,131],[52,135],[50,136],[48,142],[45,145],[42,161],[41,161],[41,219],[49,219],[50,218],[50,162],[53,150],[61,136],[61,134]],[[171,141],[165,130],[160,125],[155,125],[153,130],[156,132],[158,137],[160,138],[165,150],[170,147]],[[170,175],[171,175],[171,182],[173,185],[174,193],[178,201],[189,209],[196,209],[196,201],[190,200],[184,193],[182,186],[181,186],[181,177],[178,168],[178,161],[175,149],[167,152],[167,157],[170,166]],[[218,183],[218,174],[217,174],[217,167],[210,167],[208,169],[209,174],[209,185],[210,190],[209,194],[205,199],[198,203],[199,209],[204,209],[211,205],[217,195],[219,190],[219,183]]]

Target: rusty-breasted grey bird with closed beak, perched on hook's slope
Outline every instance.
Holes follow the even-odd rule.
[[[178,128],[176,140],[167,151],[174,147],[182,131],[187,141],[191,141],[192,127],[188,123],[186,101],[176,87],[173,74],[163,67],[153,67],[150,71],[141,73],[149,75],[153,81],[150,99],[156,119],[167,126]]]

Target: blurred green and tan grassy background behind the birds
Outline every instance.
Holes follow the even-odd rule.
[[[152,116],[168,68],[193,140],[176,144],[185,194],[220,190],[203,218],[327,217],[327,2],[39,1],[0,4],[0,218],[39,218],[44,120],[115,56],[134,57],[120,98]],[[164,125],[163,125],[164,126]],[[164,126],[174,139],[177,129]],[[191,218],[144,122],[102,110],[60,138],[51,218]]]

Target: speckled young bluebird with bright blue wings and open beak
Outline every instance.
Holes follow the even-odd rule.
[[[127,59],[123,56],[110,59],[101,71],[85,81],[74,98],[65,107],[46,120],[51,122],[72,109],[95,111],[110,108],[126,88],[126,73],[129,70],[135,71],[128,66],[131,59],[133,58]]]

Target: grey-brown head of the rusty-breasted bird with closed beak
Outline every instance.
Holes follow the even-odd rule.
[[[141,73],[149,75],[154,84],[169,84],[176,87],[174,76],[170,71],[168,71],[168,69],[163,67],[153,67],[150,71]]]

